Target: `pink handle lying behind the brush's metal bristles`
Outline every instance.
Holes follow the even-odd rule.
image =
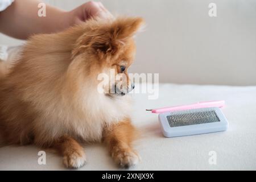
[[[191,105],[181,105],[181,106],[173,106],[173,107],[163,107],[160,109],[152,109],[151,113],[166,113],[170,111],[199,109],[204,107],[223,107],[224,105],[225,105],[225,101],[198,102],[196,104],[191,104]]]

